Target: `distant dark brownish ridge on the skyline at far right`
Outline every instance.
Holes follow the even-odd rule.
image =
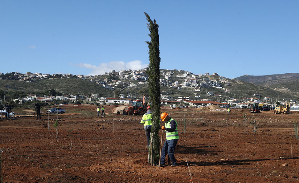
[[[246,81],[248,83],[259,84],[271,80],[297,78],[297,77],[299,77],[299,73],[285,73],[285,74],[273,74],[273,75],[242,75],[235,79]]]

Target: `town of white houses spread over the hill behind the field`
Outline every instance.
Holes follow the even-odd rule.
[[[74,103],[80,102],[93,102],[93,103],[131,103],[132,100],[142,98],[146,95],[145,87],[147,85],[148,75],[146,69],[138,70],[121,70],[111,71],[102,75],[72,75],[72,74],[42,74],[27,72],[22,74],[20,72],[0,73],[0,78],[3,80],[18,80],[23,82],[39,82],[45,79],[62,79],[62,78],[77,78],[88,82],[92,82],[100,86],[101,88],[111,91],[111,97],[102,93],[92,92],[87,94],[74,94],[74,93],[60,93],[56,88],[56,94],[52,95],[33,93],[23,94],[19,98],[10,98],[10,100],[16,103],[23,103],[31,100],[40,100],[43,102],[58,103]],[[241,83],[244,84],[244,83]],[[234,86],[235,85],[235,86]],[[239,88],[240,81],[234,79],[228,79],[218,75],[218,73],[205,73],[195,75],[190,71],[184,70],[160,70],[160,86],[161,86],[161,104],[170,105],[182,105],[187,104],[192,107],[209,106],[209,105],[240,105],[252,103],[252,102],[264,102],[267,104],[275,104],[275,101],[271,97],[265,94],[252,93],[249,95],[241,95],[235,89],[231,92],[231,88]],[[11,86],[4,86],[10,88]],[[136,89],[137,88],[137,89]],[[138,89],[139,88],[139,89]],[[53,89],[53,88],[51,88]],[[136,91],[137,92],[136,94]],[[142,91],[142,92],[141,92]],[[132,95],[132,93],[134,93]],[[177,95],[178,93],[178,95]],[[113,95],[112,95],[113,94]],[[0,96],[1,97],[1,96]],[[7,96],[9,98],[9,96]],[[3,99],[3,97],[1,97]],[[6,98],[7,99],[7,98]],[[60,102],[59,102],[60,101]],[[283,101],[281,101],[283,102]],[[293,100],[293,102],[296,102]]]

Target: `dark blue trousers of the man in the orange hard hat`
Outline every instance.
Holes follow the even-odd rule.
[[[167,154],[168,157],[170,158],[170,161],[172,162],[173,165],[175,165],[177,163],[177,161],[175,160],[174,157],[174,149],[175,146],[178,143],[178,139],[172,139],[172,140],[166,140],[163,148],[162,148],[162,153],[161,153],[161,165],[165,165],[165,157],[166,157],[166,150],[167,150]]]

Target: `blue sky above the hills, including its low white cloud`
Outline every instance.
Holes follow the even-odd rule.
[[[102,74],[149,63],[143,12],[159,25],[162,69],[224,77],[298,72],[299,1],[0,3],[0,72]]]

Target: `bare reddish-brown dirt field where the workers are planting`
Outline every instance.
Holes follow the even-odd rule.
[[[49,116],[49,130],[47,115],[0,120],[3,182],[190,182],[185,158],[193,182],[299,182],[297,113],[232,109],[228,116],[208,108],[161,108],[178,122],[179,166],[156,167],[147,163],[141,116],[116,115],[109,105],[104,117],[94,105],[62,108],[57,138],[57,115]],[[251,117],[257,122],[256,144]]]

